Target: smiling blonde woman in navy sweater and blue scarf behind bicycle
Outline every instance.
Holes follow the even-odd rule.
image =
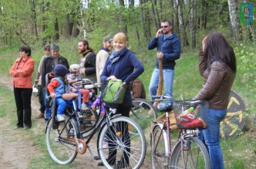
[[[121,79],[123,81],[123,87],[126,87],[126,93],[122,104],[109,104],[106,103],[106,110],[109,108],[116,108],[116,114],[122,114],[129,117],[130,109],[132,107],[132,98],[130,94],[130,81],[138,78],[144,71],[143,65],[136,55],[133,54],[128,48],[127,36],[120,32],[113,38],[113,52],[106,61],[106,65],[103,68],[101,81],[109,81],[110,79],[116,81]],[[128,132],[128,131],[124,131]],[[130,144],[130,143],[126,143]],[[126,152],[123,153],[121,161],[116,163],[116,149],[114,145],[109,143],[109,157],[107,161],[110,165],[116,164],[114,168],[122,168],[129,166],[129,152],[130,148],[126,148]],[[126,147],[130,147],[129,145]],[[99,163],[99,166],[103,166],[103,163]]]

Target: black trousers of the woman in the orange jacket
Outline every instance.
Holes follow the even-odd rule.
[[[31,96],[32,88],[13,88],[15,103],[17,108],[18,126],[23,127],[23,123],[31,128]],[[23,114],[24,113],[24,114]]]

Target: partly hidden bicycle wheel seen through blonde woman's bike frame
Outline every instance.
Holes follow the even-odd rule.
[[[96,111],[93,111],[90,108],[82,110],[81,114],[83,115],[83,118],[79,118],[80,130],[83,134],[83,138],[87,138],[92,133],[93,128],[96,126],[98,114]]]

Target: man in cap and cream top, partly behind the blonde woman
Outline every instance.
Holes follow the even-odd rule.
[[[103,71],[104,65],[106,63],[106,59],[110,55],[110,51],[112,48],[113,38],[111,35],[106,35],[103,38],[103,47],[100,48],[98,54],[96,55],[96,75],[97,75],[97,83],[100,83],[100,75]]]

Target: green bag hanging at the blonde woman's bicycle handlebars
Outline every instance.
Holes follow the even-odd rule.
[[[103,89],[103,101],[112,104],[123,103],[124,94],[126,93],[126,88],[122,87],[123,81],[117,79],[116,81],[109,80],[106,87]]]

